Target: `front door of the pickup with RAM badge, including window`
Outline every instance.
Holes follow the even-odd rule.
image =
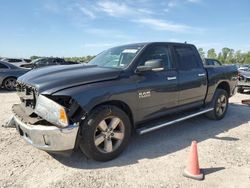
[[[178,77],[175,64],[170,55],[170,48],[164,44],[148,46],[139,65],[148,60],[161,59],[164,69],[138,73],[138,100],[141,119],[151,119],[178,106]]]

